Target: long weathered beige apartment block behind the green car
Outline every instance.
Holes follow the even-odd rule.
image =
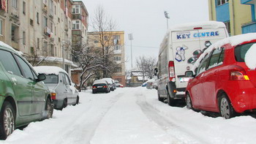
[[[32,65],[43,60],[39,65],[63,67],[70,73],[75,67],[71,56],[74,3],[72,0],[1,0],[0,40],[23,52]],[[88,13],[85,17],[87,20]]]

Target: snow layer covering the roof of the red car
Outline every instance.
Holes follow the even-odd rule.
[[[192,71],[195,71],[195,69],[199,66],[200,61],[208,54],[211,53],[211,50],[214,48],[221,48],[223,45],[226,45],[230,43],[232,46],[239,45],[243,42],[249,42],[253,39],[256,39],[256,33],[249,33],[249,34],[240,34],[233,37],[227,37],[225,39],[219,40],[215,42],[213,45],[211,45],[209,48],[206,49],[206,51],[197,59],[194,66],[192,67]],[[251,57],[251,56],[250,56]],[[255,56],[252,56],[252,58]],[[251,59],[251,58],[249,58]],[[249,60],[248,60],[249,61]],[[247,61],[247,62],[248,62]],[[255,62],[256,63],[256,62]],[[250,63],[251,64],[251,63]]]

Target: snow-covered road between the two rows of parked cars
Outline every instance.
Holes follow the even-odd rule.
[[[255,143],[256,119],[211,118],[157,100],[157,91],[118,88],[80,93],[80,105],[55,110],[53,118],[15,130],[0,143],[168,144]]]

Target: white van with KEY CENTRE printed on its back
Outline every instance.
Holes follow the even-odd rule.
[[[167,32],[159,49],[158,99],[175,105],[175,99],[184,99],[189,77],[184,73],[192,69],[200,54],[219,39],[228,37],[224,23],[207,21],[173,26]]]

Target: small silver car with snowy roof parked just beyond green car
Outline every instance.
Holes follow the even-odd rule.
[[[64,69],[53,66],[39,66],[34,69],[38,73],[46,75],[46,79],[43,81],[50,89],[55,109],[62,110],[67,105],[79,103],[78,90]]]

